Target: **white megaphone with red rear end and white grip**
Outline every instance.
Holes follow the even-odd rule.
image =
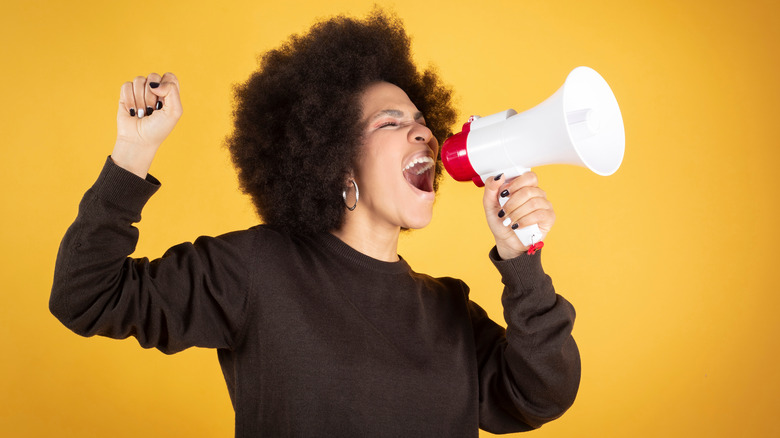
[[[577,67],[555,94],[527,111],[469,118],[444,142],[441,158],[454,179],[482,187],[487,178],[503,173],[510,179],[546,164],[611,175],[623,162],[625,144],[623,118],[609,85],[595,70]],[[499,198],[501,206],[507,200]],[[515,233],[528,247],[542,237],[537,225]]]

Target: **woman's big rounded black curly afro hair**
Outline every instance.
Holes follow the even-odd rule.
[[[433,69],[417,70],[400,19],[379,9],[291,36],[235,87],[227,146],[241,189],[266,224],[297,234],[341,226],[342,190],[362,145],[360,95],[378,81],[406,92],[440,144],[450,134],[451,90]]]

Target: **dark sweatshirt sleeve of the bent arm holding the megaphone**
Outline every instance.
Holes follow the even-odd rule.
[[[540,257],[490,258],[504,284],[506,330],[470,302],[479,367],[480,427],[493,433],[535,429],[574,403],[580,355],[574,308],[555,293]]]

